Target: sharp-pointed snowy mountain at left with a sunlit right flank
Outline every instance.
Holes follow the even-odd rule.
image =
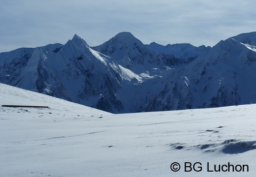
[[[109,112],[122,109],[115,91],[126,73],[120,75],[116,63],[77,35],[63,46],[19,49],[2,53],[0,59],[2,83]]]

